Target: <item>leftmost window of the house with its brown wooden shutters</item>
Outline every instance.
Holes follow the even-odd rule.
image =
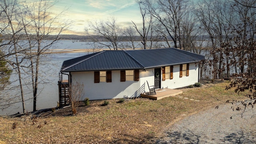
[[[111,71],[96,71],[94,72],[94,83],[99,82],[112,82]]]

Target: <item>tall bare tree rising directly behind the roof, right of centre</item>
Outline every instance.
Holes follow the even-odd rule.
[[[167,39],[170,37],[174,47],[178,48],[178,43],[181,44],[181,20],[186,15],[188,0],[143,0],[142,4],[161,23],[168,46]]]

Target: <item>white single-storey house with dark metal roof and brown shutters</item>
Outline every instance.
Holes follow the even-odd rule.
[[[150,86],[181,88],[199,82],[200,61],[204,56],[177,48],[146,50],[104,50],[63,62],[59,81],[60,95],[67,94],[62,84],[84,85],[89,100],[138,97]],[[62,85],[63,86],[63,85]]]

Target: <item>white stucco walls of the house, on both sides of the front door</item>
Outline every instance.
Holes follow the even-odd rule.
[[[180,66],[173,67],[173,79],[162,81],[161,88],[180,88],[198,82],[198,63],[189,65],[189,76],[180,78]],[[112,71],[112,82],[94,83],[94,72],[71,72],[72,82],[76,81],[84,84],[84,96],[81,100],[88,97],[89,100],[101,100],[112,98],[132,98],[138,97],[142,92],[148,92],[149,86],[154,85],[154,68],[140,70],[139,81],[120,82],[120,70]]]

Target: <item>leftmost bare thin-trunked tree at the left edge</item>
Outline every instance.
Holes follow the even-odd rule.
[[[2,52],[4,52],[3,57],[7,60],[7,62],[12,66],[12,70],[18,74],[20,94],[22,99],[22,107],[23,112],[25,112],[25,103],[24,103],[24,88],[22,81],[22,74],[24,73],[21,67],[24,59],[19,58],[19,54],[26,51],[26,48],[20,47],[18,43],[22,36],[19,35],[23,30],[23,26],[21,25],[20,18],[23,16],[20,12],[22,10],[19,7],[19,4],[16,0],[4,0],[0,2],[1,11],[1,32],[4,36],[4,44],[1,45]],[[12,58],[9,58],[13,56]],[[10,88],[14,89],[14,88]],[[9,103],[8,103],[9,104]]]

